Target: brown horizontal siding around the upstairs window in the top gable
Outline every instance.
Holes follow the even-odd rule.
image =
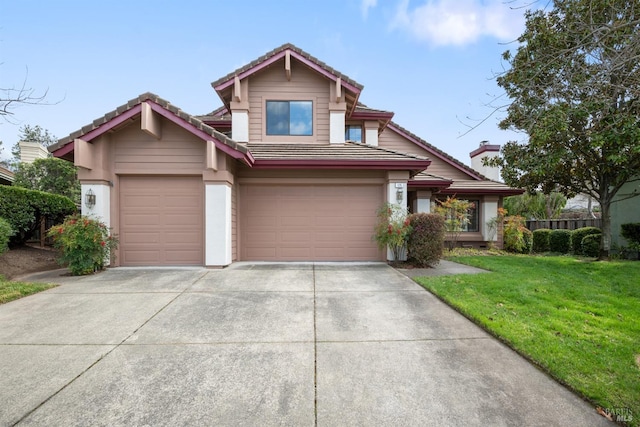
[[[278,61],[249,80],[249,140],[251,142],[329,143],[329,83],[305,65],[291,61],[287,80],[284,60]],[[266,136],[266,100],[312,100],[313,136]]]

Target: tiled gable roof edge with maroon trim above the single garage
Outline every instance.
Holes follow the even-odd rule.
[[[50,145],[48,147],[49,151],[50,152],[54,152],[54,151],[59,150],[60,148],[64,147],[67,144],[73,143],[74,139],[80,138],[83,135],[88,134],[89,132],[92,132],[92,131],[94,131],[96,129],[99,129],[101,126],[107,124],[111,120],[117,118],[118,116],[122,115],[123,113],[131,110],[132,108],[134,108],[138,104],[141,104],[141,103],[143,103],[145,101],[151,101],[151,102],[161,106],[165,110],[173,113],[175,116],[179,117],[180,119],[182,119],[185,122],[189,123],[190,125],[194,126],[196,129],[198,129],[198,130],[210,135],[211,137],[213,137],[216,140],[220,141],[221,143],[233,148],[234,150],[240,151],[242,153],[246,153],[247,152],[247,148],[243,144],[239,144],[239,143],[233,141],[231,138],[227,137],[223,133],[220,133],[217,130],[215,130],[214,128],[212,128],[211,126],[205,124],[199,118],[184,112],[180,108],[178,108],[175,105],[171,104],[169,101],[159,97],[158,95],[150,93],[150,92],[143,93],[142,95],[138,96],[137,98],[133,98],[133,99],[129,100],[129,102],[127,102],[126,104],[122,104],[121,106],[119,106],[116,109],[108,112],[104,116],[94,120],[92,123],[90,123],[90,124],[88,124],[86,126],[83,126],[80,130],[78,130],[76,132],[73,132],[69,136],[61,138],[60,140],[58,140],[58,142],[56,144]]]

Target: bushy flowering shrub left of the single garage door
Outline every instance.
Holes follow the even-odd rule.
[[[74,276],[102,270],[118,247],[118,240],[105,224],[81,215],[68,216],[62,225],[52,227],[48,236],[62,253],[59,262],[68,264]]]

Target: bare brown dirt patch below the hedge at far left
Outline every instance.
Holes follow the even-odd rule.
[[[49,248],[40,249],[21,246],[10,249],[0,255],[0,275],[13,279],[28,273],[55,270],[60,268],[56,262],[58,253]]]

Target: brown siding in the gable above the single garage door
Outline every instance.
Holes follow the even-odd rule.
[[[140,130],[140,121],[111,139],[115,173],[201,174],[206,144],[179,126],[162,122],[162,139]]]

